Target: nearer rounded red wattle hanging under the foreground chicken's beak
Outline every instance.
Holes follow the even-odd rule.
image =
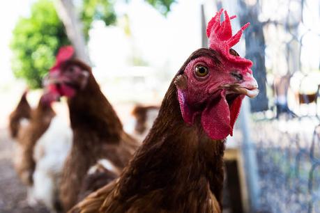
[[[213,140],[225,139],[231,133],[230,111],[225,91],[222,90],[220,97],[208,103],[201,113],[201,125]]]

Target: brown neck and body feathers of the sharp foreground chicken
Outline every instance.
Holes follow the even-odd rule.
[[[213,141],[199,119],[183,121],[174,81],[158,118],[121,177],[94,192],[70,212],[221,212],[224,140]]]

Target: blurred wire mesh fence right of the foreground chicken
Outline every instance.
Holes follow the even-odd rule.
[[[266,94],[276,111],[254,113],[251,129],[262,212],[320,212],[320,2],[238,3],[243,19],[257,14],[247,33],[264,31],[264,43],[246,49],[266,60]]]

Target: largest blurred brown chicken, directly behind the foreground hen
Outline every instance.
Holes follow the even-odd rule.
[[[74,58],[73,47],[61,47],[47,83],[50,93],[68,97],[73,129],[73,147],[63,168],[60,187],[61,203],[66,211],[83,194],[93,191],[84,187],[97,188],[91,180],[102,187],[118,177],[139,143],[123,131],[121,121],[102,94],[89,65]],[[102,170],[96,169],[100,166],[104,166],[109,175],[101,175]],[[104,182],[97,176],[104,177]]]

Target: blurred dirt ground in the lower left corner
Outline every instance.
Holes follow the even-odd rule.
[[[0,129],[0,212],[47,213],[43,206],[29,207],[26,187],[17,178],[12,164],[13,141],[6,129]]]

